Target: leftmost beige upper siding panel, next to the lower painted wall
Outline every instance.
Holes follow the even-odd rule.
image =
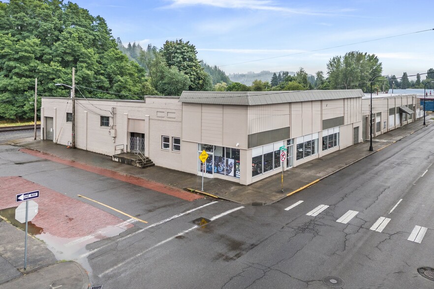
[[[202,105],[183,103],[182,139],[187,142],[201,143]]]

